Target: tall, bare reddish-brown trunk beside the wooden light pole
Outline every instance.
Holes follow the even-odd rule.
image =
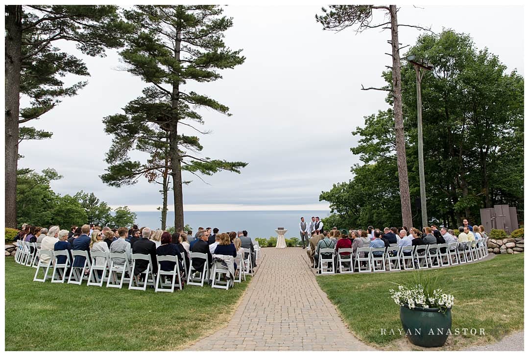
[[[393,57],[393,111],[395,114],[395,143],[397,146],[398,181],[400,188],[400,210],[403,226],[413,226],[412,203],[409,197],[408,166],[406,163],[406,144],[404,141],[404,122],[402,117],[402,93],[400,89],[400,55],[397,28],[397,6],[389,5],[391,15],[391,57]]]

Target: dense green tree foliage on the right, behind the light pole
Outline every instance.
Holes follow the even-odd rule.
[[[331,6],[331,11],[348,15],[342,19],[344,23],[363,11],[360,5],[336,7]],[[370,11],[368,7],[366,11]],[[325,21],[331,21],[331,26],[340,24],[332,23],[336,20],[332,16],[322,16],[318,21],[324,25]],[[495,204],[523,211],[523,76],[507,72],[487,49],[477,50],[468,35],[449,30],[420,36],[409,54],[434,63],[422,80],[431,222],[452,227],[458,226],[462,217],[479,222],[479,209]],[[390,85],[391,71],[382,76]],[[415,79],[414,68],[404,66],[402,98],[412,202],[419,197]],[[391,102],[391,94],[387,102]],[[320,195],[320,200],[331,206],[326,226],[402,224],[394,131],[393,111],[388,109],[366,116],[364,125],[352,132],[358,144],[351,151],[363,164],[351,168],[349,182],[335,184]],[[417,216],[417,225],[420,213],[414,204],[412,216]]]

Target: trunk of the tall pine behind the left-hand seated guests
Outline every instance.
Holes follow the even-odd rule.
[[[175,59],[180,60],[180,31],[177,32],[175,41]],[[178,102],[180,99],[180,83],[178,79],[172,84],[172,122],[169,131],[169,156],[171,158],[171,176],[173,186],[173,197],[175,204],[175,231],[184,229],[184,196],[182,194],[182,171],[180,163],[180,152],[178,150]]]

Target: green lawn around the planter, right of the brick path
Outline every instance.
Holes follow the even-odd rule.
[[[524,327],[524,254],[497,255],[494,259],[423,273],[439,275],[444,293],[454,296],[452,330],[485,328],[485,335],[449,336],[445,349],[470,344],[492,343],[505,334]],[[399,349],[406,336],[399,306],[389,296],[391,284],[409,283],[413,271],[366,273],[316,277],[320,287],[335,304],[349,330],[360,340],[383,349]],[[394,328],[395,335],[381,335],[381,329]],[[462,331],[461,331],[462,333]]]

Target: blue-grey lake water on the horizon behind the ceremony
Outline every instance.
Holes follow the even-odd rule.
[[[149,226],[151,229],[161,227],[161,213],[135,212],[138,226]],[[277,236],[275,230],[284,227],[288,230],[285,238],[299,238],[300,217],[305,217],[309,224],[311,216],[324,218],[329,211],[247,211],[247,212],[184,212],[184,223],[191,226],[193,232],[202,227],[218,227],[221,232],[248,231],[254,238]],[[167,226],[174,225],[175,213],[167,213]]]

